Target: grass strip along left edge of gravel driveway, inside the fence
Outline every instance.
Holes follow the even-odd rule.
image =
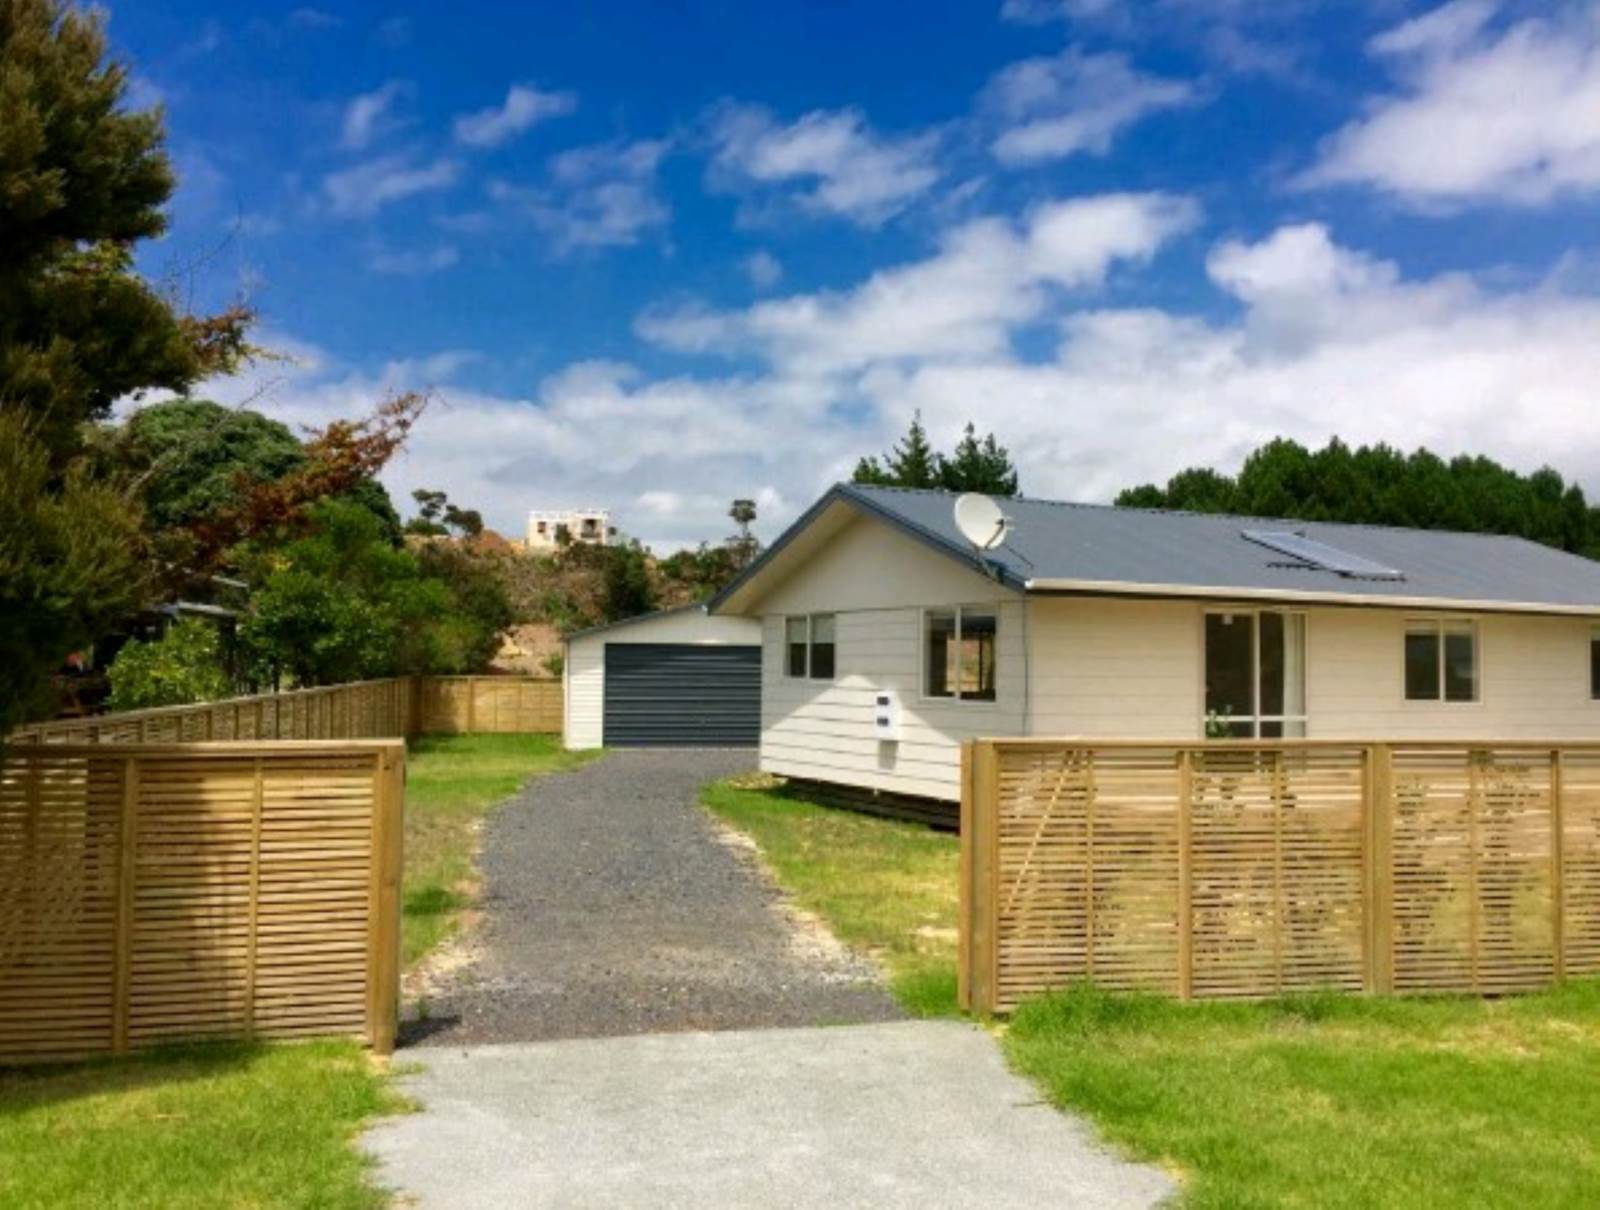
[[[574,768],[555,735],[427,735],[406,749],[405,965],[456,932],[477,890],[478,824],[536,773]]]

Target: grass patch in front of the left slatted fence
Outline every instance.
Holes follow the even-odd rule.
[[[400,1108],[354,1042],[0,1072],[0,1205],[382,1205],[352,1140]]]

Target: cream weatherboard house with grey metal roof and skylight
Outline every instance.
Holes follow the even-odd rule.
[[[840,485],[714,602],[762,768],[958,800],[973,736],[1597,738],[1600,563],[1522,538]]]

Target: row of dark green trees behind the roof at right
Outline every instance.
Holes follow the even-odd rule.
[[[1600,514],[1582,488],[1550,467],[1522,475],[1491,458],[1448,463],[1427,450],[1387,445],[1322,450],[1274,440],[1238,475],[1190,467],[1166,487],[1144,483],[1117,496],[1134,507],[1234,512],[1245,517],[1405,525],[1421,530],[1509,533],[1573,554],[1600,557]]]

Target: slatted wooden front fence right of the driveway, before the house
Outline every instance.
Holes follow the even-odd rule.
[[[1501,994],[1600,973],[1600,743],[984,739],[960,999]]]

